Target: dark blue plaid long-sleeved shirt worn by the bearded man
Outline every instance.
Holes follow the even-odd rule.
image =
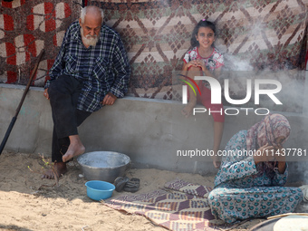
[[[45,89],[60,75],[71,75],[82,81],[77,109],[98,111],[101,101],[111,92],[121,98],[128,91],[130,64],[120,35],[106,25],[101,26],[100,39],[94,47],[82,43],[81,26],[72,23],[66,31]]]

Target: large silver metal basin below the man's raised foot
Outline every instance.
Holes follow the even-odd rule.
[[[82,166],[84,177],[88,180],[103,180],[113,183],[115,178],[123,177],[130,168],[130,158],[113,151],[92,151],[77,158]]]

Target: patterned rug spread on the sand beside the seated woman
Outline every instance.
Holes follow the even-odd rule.
[[[149,218],[153,223],[174,231],[220,230],[222,225],[211,213],[207,204],[207,186],[175,179],[165,188],[149,193],[111,198],[104,205],[129,214]]]

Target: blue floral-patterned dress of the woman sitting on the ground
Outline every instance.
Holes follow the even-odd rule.
[[[272,174],[258,174],[253,156],[244,151],[246,134],[246,130],[241,130],[226,144],[225,150],[236,155],[224,157],[217,173],[215,189],[208,197],[213,215],[232,223],[294,212],[303,199],[303,192],[300,188],[284,187],[287,165],[284,174],[277,168]]]

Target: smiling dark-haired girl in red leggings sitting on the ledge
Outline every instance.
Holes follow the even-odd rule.
[[[221,53],[214,48],[213,43],[215,41],[216,27],[215,24],[201,20],[195,27],[191,45],[192,49],[189,50],[184,56],[184,63],[182,67],[183,75],[194,79],[195,76],[210,76],[217,78],[224,65],[224,58]],[[188,72],[189,71],[189,72]],[[196,81],[201,91],[201,95],[195,93],[191,88],[188,88],[188,105],[183,109],[182,113],[188,117],[197,102],[201,102],[207,110],[210,111],[222,111],[211,112],[214,119],[214,146],[213,150],[215,156],[212,157],[215,168],[219,168],[220,161],[217,157],[217,151],[221,142],[225,115],[222,104],[211,104],[211,91],[208,89],[207,82]]]

